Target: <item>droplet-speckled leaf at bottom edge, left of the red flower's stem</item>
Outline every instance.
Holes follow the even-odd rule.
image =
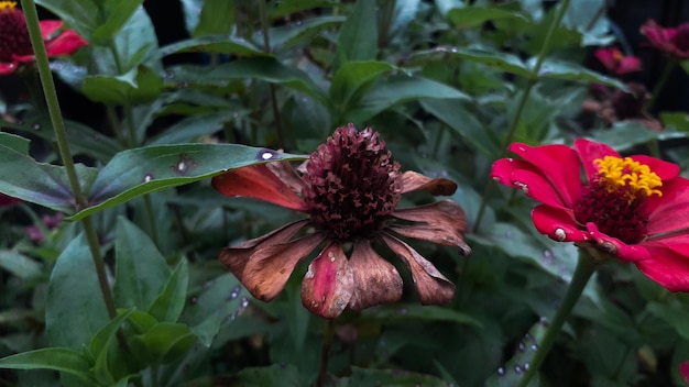
[[[548,329],[548,322],[540,319],[522,338],[514,351],[512,358],[500,366],[486,382],[488,387],[514,387],[520,384],[524,374],[528,371],[531,363],[538,352],[538,346]],[[538,386],[538,375],[531,380],[529,386]]]

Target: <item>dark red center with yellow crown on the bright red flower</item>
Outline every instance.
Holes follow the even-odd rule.
[[[592,222],[600,232],[626,244],[642,242],[648,224],[644,199],[663,195],[658,189],[663,185],[660,178],[647,165],[630,157],[605,156],[594,163],[599,174],[575,204],[577,222]]]

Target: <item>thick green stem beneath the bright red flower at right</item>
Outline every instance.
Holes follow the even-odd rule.
[[[553,347],[555,343],[555,339],[560,333],[565,321],[571,313],[572,309],[577,305],[583,288],[589,283],[589,279],[595,272],[600,261],[597,261],[589,253],[587,253],[583,248],[579,248],[579,261],[577,262],[577,268],[575,269],[575,274],[572,275],[571,281],[569,283],[569,287],[565,292],[565,298],[562,298],[562,302],[558,308],[553,321],[548,325],[548,330],[546,331],[545,336],[542,342],[538,344],[538,351],[534,356],[534,360],[531,362],[531,366],[524,377],[520,382],[520,387],[528,386],[531,379],[538,373],[538,368],[545,361],[548,352]]]

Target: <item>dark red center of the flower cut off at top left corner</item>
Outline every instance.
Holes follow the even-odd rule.
[[[24,14],[13,1],[0,1],[0,62],[12,62],[14,55],[31,55],[31,40]]]

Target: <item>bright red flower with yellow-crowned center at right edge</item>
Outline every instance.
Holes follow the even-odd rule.
[[[499,159],[491,176],[543,203],[532,212],[540,233],[632,262],[671,291],[689,290],[689,180],[677,165],[621,157],[581,139],[573,148],[514,143],[510,151],[521,159]]]

